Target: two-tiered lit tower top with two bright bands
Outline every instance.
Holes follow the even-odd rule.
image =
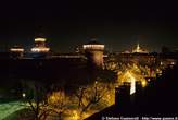
[[[49,52],[50,48],[46,47],[46,40],[44,37],[35,38],[35,47],[31,48],[31,52]]]

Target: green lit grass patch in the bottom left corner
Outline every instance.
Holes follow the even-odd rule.
[[[0,120],[3,120],[11,113],[25,108],[21,101],[11,101],[0,104]]]

